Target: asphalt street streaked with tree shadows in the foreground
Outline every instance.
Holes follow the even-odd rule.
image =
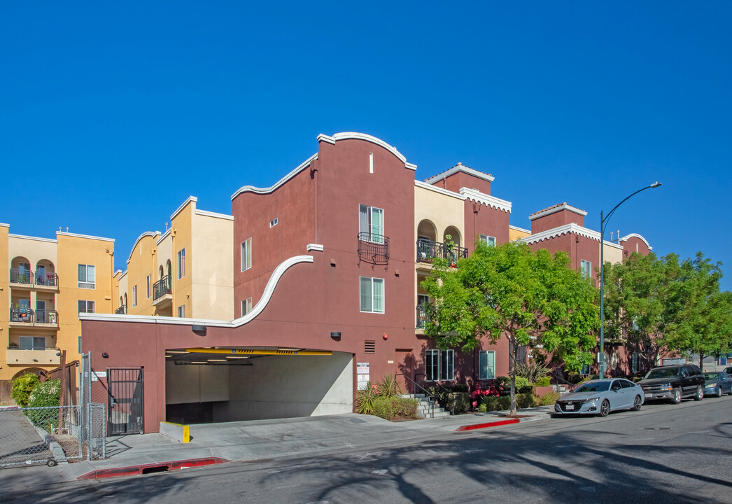
[[[730,503],[732,397],[327,456],[5,492],[4,503]]]

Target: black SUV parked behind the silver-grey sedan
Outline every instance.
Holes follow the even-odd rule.
[[[704,375],[698,366],[681,364],[653,368],[638,382],[646,401],[665,399],[679,404],[684,397],[701,401],[704,397]]]

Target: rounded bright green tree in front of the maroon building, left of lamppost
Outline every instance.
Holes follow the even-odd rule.
[[[600,326],[597,289],[569,267],[566,253],[536,253],[523,243],[488,247],[477,242],[457,269],[435,259],[422,282],[427,305],[425,334],[438,349],[468,352],[486,339],[509,341],[511,413],[516,413],[516,364],[523,347],[543,347],[579,369],[593,361]]]

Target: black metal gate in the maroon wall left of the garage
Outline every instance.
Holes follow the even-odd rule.
[[[144,430],[143,368],[108,369],[108,436]]]

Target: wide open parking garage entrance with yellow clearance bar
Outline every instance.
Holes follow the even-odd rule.
[[[218,423],[353,411],[353,354],[217,347],[165,352],[165,418]]]

